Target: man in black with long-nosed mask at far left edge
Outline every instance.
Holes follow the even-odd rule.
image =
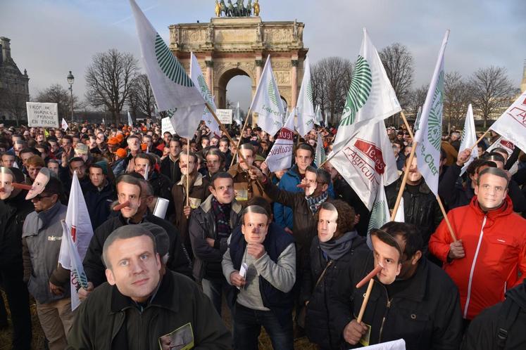
[[[0,167],[0,280],[6,292],[13,321],[13,349],[31,349],[29,294],[23,281],[22,228],[34,210],[25,200],[26,190],[13,188],[23,183],[20,169]],[[7,344],[6,344],[7,345]]]

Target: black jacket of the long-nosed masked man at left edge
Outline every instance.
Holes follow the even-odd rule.
[[[0,200],[0,266],[22,266],[22,228],[27,214],[35,211],[23,190],[13,198]]]

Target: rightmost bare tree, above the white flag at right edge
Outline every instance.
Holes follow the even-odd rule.
[[[480,111],[486,129],[489,116],[503,104],[508,105],[508,98],[515,88],[504,67],[480,68],[473,73],[469,82],[473,107]]]

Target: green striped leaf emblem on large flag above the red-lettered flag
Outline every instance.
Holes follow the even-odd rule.
[[[351,76],[351,86],[347,92],[344,112],[342,113],[342,125],[353,124],[356,112],[365,105],[371,92],[372,74],[369,63],[358,55],[356,65]]]

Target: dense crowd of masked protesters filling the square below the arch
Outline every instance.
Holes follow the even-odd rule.
[[[355,190],[314,162],[334,127],[296,134],[291,167],[273,173],[275,138],[256,125],[234,124],[233,143],[204,123],[192,140],[150,119],[70,127],[0,125],[0,327],[7,307],[13,349],[31,349],[30,303],[51,350],[250,350],[262,327],[273,349],[297,337],[319,349],[526,349],[526,155],[488,152],[494,133],[472,161],[459,131],[444,135],[453,239],[405,126],[387,128],[400,179],[385,188],[393,209],[408,171],[405,222],[370,232]],[[58,255],[75,173],[94,235],[72,311]],[[379,265],[363,312],[368,285],[356,285]]]

